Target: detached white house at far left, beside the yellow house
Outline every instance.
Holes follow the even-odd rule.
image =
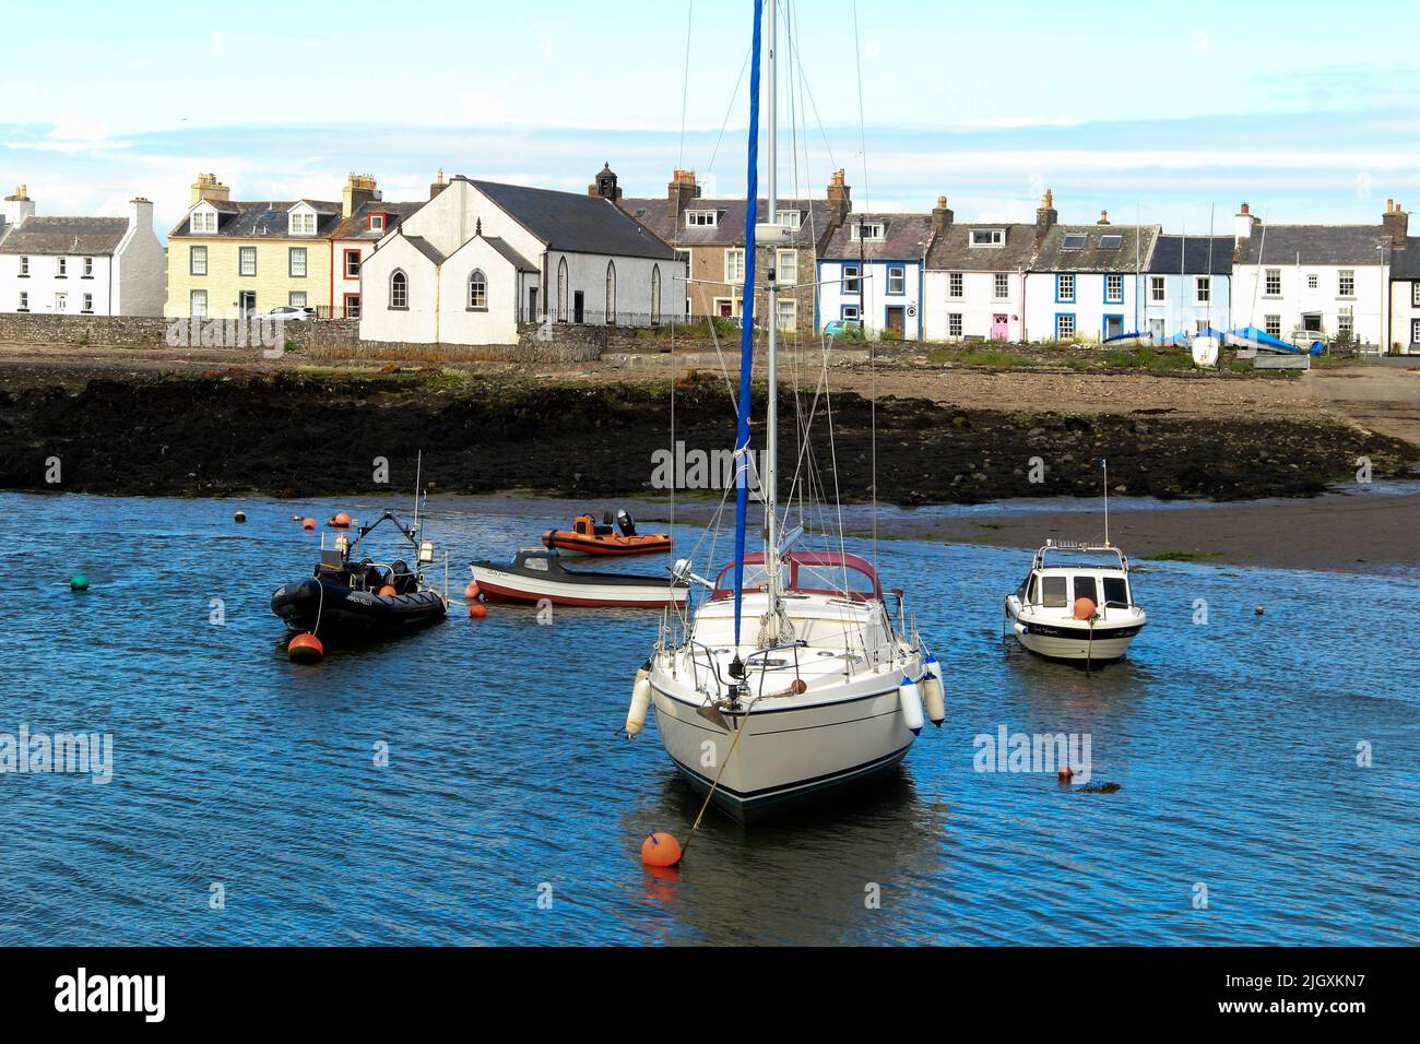
[[[162,315],[168,261],[146,199],[132,200],[128,217],[50,217],[21,185],[0,229],[0,311]]]

